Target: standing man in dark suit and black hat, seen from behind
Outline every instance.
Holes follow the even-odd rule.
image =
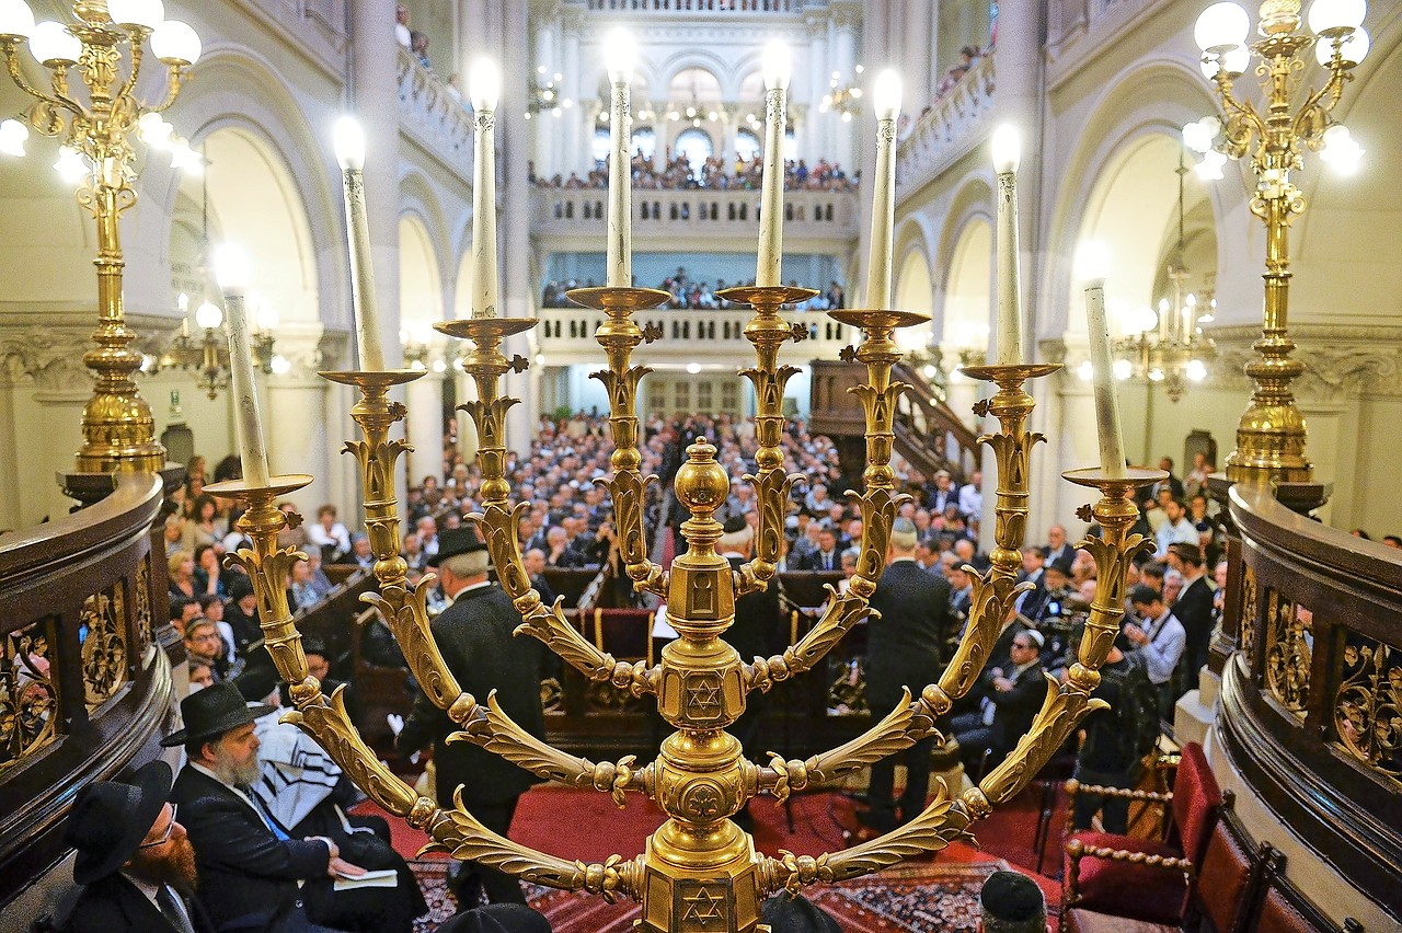
[[[440,535],[439,580],[453,604],[433,619],[433,640],[458,685],[477,702],[485,703],[495,689],[496,699],[517,726],[544,738],[545,713],[540,705],[540,671],[544,646],[527,636],[513,637],[522,616],[510,597],[486,579],[486,545],[472,528],[450,528]],[[453,793],[463,789],[463,804],[482,825],[508,835],[516,803],[540,779],[471,742],[447,742],[458,731],[447,713],[423,693],[404,723],[401,752],[433,744],[437,766],[437,800],[451,806]],[[451,881],[458,904],[472,906],[477,887],[492,904],[524,904],[526,895],[512,876],[472,862],[458,863]]]

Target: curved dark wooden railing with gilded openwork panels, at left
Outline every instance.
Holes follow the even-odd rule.
[[[0,535],[0,904],[56,862],[73,792],[156,755],[175,705],[161,479]],[[158,539],[157,539],[157,548]],[[161,630],[164,628],[164,632]]]

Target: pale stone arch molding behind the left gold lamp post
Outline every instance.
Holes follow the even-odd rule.
[[[310,230],[310,262],[315,275],[318,318],[324,326],[350,326],[349,259],[345,256],[339,172],[327,132],[336,111],[311,113],[287,92],[289,81],[272,62],[247,46],[216,43],[206,48],[198,76],[171,113],[178,132],[192,143],[220,129],[238,129],[255,137],[280,161],[301,200]],[[314,99],[310,95],[304,98]],[[128,303],[136,308],[164,310],[164,290],[171,228],[179,178],[171,170],[149,165],[139,182],[142,203],[125,220],[123,238],[151,244],[128,266]]]

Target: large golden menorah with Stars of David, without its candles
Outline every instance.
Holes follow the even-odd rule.
[[[784,516],[798,476],[784,474],[781,430],[784,423],[784,384],[796,373],[780,366],[778,353],[785,340],[806,335],[802,326],[789,325],[781,315],[785,303],[815,294],[806,289],[744,287],[722,294],[729,301],[754,308],[746,336],[756,347],[756,366],[744,370],[757,396],[757,471],[744,479],[758,493],[760,523],[754,559],[740,570],[715,551],[721,524],[715,511],[723,504],[729,476],[716,462],[716,448],[698,438],[687,448],[687,462],[676,476],[676,492],[691,517],[683,523],[687,549],[663,570],[648,559],[644,530],[644,493],[655,476],[639,472],[638,419],[635,401],[639,380],[649,371],[634,366],[632,350],[656,333],[644,331],[634,312],[662,304],[667,296],[651,289],[583,289],[571,297],[583,305],[601,310],[607,321],[599,328],[608,368],[596,373],[610,398],[614,475],[607,481],[613,493],[621,551],[628,576],[638,590],[662,595],[667,601],[667,621],[677,639],[662,650],[659,664],[628,664],[589,643],[565,618],[558,601],[547,607],[530,587],[520,562],[516,525],[529,503],[510,502],[510,483],[505,476],[508,409],[517,399],[501,395],[501,377],[522,370],[526,360],[508,360],[502,352],[506,338],[536,325],[531,318],[479,317],[436,325],[453,338],[472,343],[464,368],[477,384],[478,399],[463,405],[477,424],[481,438],[479,466],[482,510],[471,516],[489,546],[492,563],[503,590],[515,601],[523,623],[519,635],[543,640],[564,660],[593,681],[608,681],[635,696],[652,695],[662,717],[676,730],[662,742],[658,759],[639,766],[632,756],[617,762],[592,762],[565,754],[522,730],[486,698],[463,693],[453,672],[429,633],[425,611],[433,577],[425,577],[409,590],[405,562],[400,558],[400,516],[394,500],[394,472],[404,441],[391,440],[390,429],[405,415],[402,405],[390,402],[387,391],[422,375],[419,371],[325,373],[325,378],[356,387],[360,401],[352,417],[360,424],[363,438],[349,441],[346,450],[360,465],[365,485],[365,509],[379,594],[365,597],[376,605],[404,649],[414,675],[428,696],[461,730],[450,741],[471,741],[536,775],[576,787],[594,787],[613,796],[622,807],[627,792],[644,793],[667,814],[667,821],[648,838],[646,852],[629,859],[611,856],[586,864],[527,849],[485,829],[460,800],[430,801],[381,765],[350,724],[339,695],[321,693],[315,678],[308,677],[296,628],[286,600],[286,577],[292,562],[300,558],[290,548],[279,549],[278,531],[285,517],[272,503],[276,496],[296,489],[306,476],[275,476],[268,488],[244,483],[220,483],[206,488],[210,493],[238,499],[250,506],[238,527],[254,541],[251,551],[230,559],[243,565],[255,580],[259,618],[272,657],[282,677],[292,684],[296,710],[287,714],[311,734],[331,756],[387,811],[408,820],[433,839],[433,846],[457,859],[471,859],[495,866],[522,880],[569,891],[587,891],[614,901],[632,898],[642,904],[639,929],[648,933],[750,933],[765,929],[760,923],[763,901],[778,891],[796,894],[803,885],[857,877],[894,864],[903,859],[944,848],[952,839],[967,836],[970,824],[993,813],[1022,789],[1066,741],[1085,713],[1103,706],[1091,699],[1099,684],[1098,668],[1105,661],[1123,615],[1124,570],[1136,552],[1148,545],[1130,535],[1138,511],[1130,496],[1136,486],[1164,476],[1158,471],[1130,471],[1127,478],[1112,479],[1098,469],[1066,474],[1071,482],[1101,490],[1094,509],[1087,506],[1082,518],[1096,521],[1102,537],[1082,542],[1095,558],[1101,590],[1087,623],[1087,637],[1080,646],[1078,663],[1066,684],[1047,679],[1046,700],[1032,728],[1012,754],[988,773],[977,787],[952,794],[941,787],[935,800],[911,822],[880,838],[844,852],[780,857],[754,850],[753,839],[730,817],[760,793],[784,800],[791,792],[829,782],[857,770],[896,751],[935,734],[937,719],[949,712],[955,700],[976,684],[998,637],[1012,601],[1023,587],[1016,583],[1021,567],[1018,548],[1025,539],[1028,517],[1029,461],[1040,434],[1026,430],[1033,399],[1026,394],[1026,380],[1060,368],[1046,366],[966,367],[970,377],[990,380],[998,392],[981,413],[993,415],[1001,430],[981,438],[998,459],[997,546],[993,566],[974,576],[974,598],[967,632],[955,657],[937,684],[914,684],[916,693],[886,712],[865,734],[829,752],[805,761],[785,761],[771,754],[768,763],[746,758],[740,742],[726,733],[746,707],[751,691],[768,691],[775,684],[812,670],[857,622],[879,618],[869,609],[869,600],[886,565],[892,523],[908,496],[897,492],[890,466],[892,417],[900,394],[907,388],[892,381],[892,366],[900,349],[892,339],[897,328],[925,321],[925,315],[885,311],[834,311],[831,317],[859,328],[865,335],[844,359],[866,367],[868,381],[854,391],[861,395],[866,417],[866,459],[864,490],[851,493],[859,507],[864,530],[861,556],[851,588],[834,594],[823,618],[796,644],[768,658],[742,658],[725,640],[725,630],[735,618],[737,595],[770,586],[780,559]],[[973,569],[969,569],[973,574]],[[923,689],[921,689],[923,688]]]

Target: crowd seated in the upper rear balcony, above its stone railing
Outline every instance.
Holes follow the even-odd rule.
[[[537,175],[531,163],[531,184],[537,188],[561,189],[603,189],[608,188],[608,163],[600,160],[594,168],[580,177],[578,172],[555,175]],[[663,151],[660,164],[653,156],[645,156],[638,150],[632,156],[632,186],[645,191],[760,191],[764,178],[764,160],[756,153],[744,158],[735,154],[735,161],[728,161],[725,156],[708,156],[700,165],[691,164],[691,157],[686,153],[673,154],[667,147]],[[784,161],[784,191],[857,191],[859,174],[848,175],[840,163],[830,163],[826,158],[817,160],[813,165],[803,158],[788,158]]]

